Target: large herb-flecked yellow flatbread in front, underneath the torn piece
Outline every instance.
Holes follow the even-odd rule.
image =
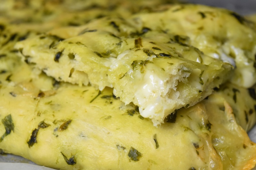
[[[0,80],[0,149],[39,165],[65,170],[255,166],[256,144],[236,123],[225,99],[233,96],[221,90],[156,128],[110,88],[99,93],[91,86],[52,86],[52,78],[37,76],[25,63],[1,74]],[[232,91],[234,86],[229,87]],[[248,91],[243,95],[256,104]],[[248,119],[255,121],[255,112]],[[236,112],[239,119],[237,115],[244,112]]]

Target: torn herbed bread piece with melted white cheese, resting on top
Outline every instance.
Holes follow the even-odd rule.
[[[138,32],[132,24],[98,19],[78,28],[52,30],[16,48],[24,60],[58,81],[90,83],[100,90],[114,87],[121,101],[139,106],[140,114],[155,126],[176,109],[204,99],[227,79],[230,64],[171,41],[172,35],[148,28]]]

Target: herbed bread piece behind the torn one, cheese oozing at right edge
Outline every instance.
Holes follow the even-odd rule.
[[[163,30],[180,43],[199,48],[206,55],[235,67],[230,81],[251,87],[256,83],[255,23],[233,11],[195,4],[172,5],[165,11],[132,16],[140,27]]]

